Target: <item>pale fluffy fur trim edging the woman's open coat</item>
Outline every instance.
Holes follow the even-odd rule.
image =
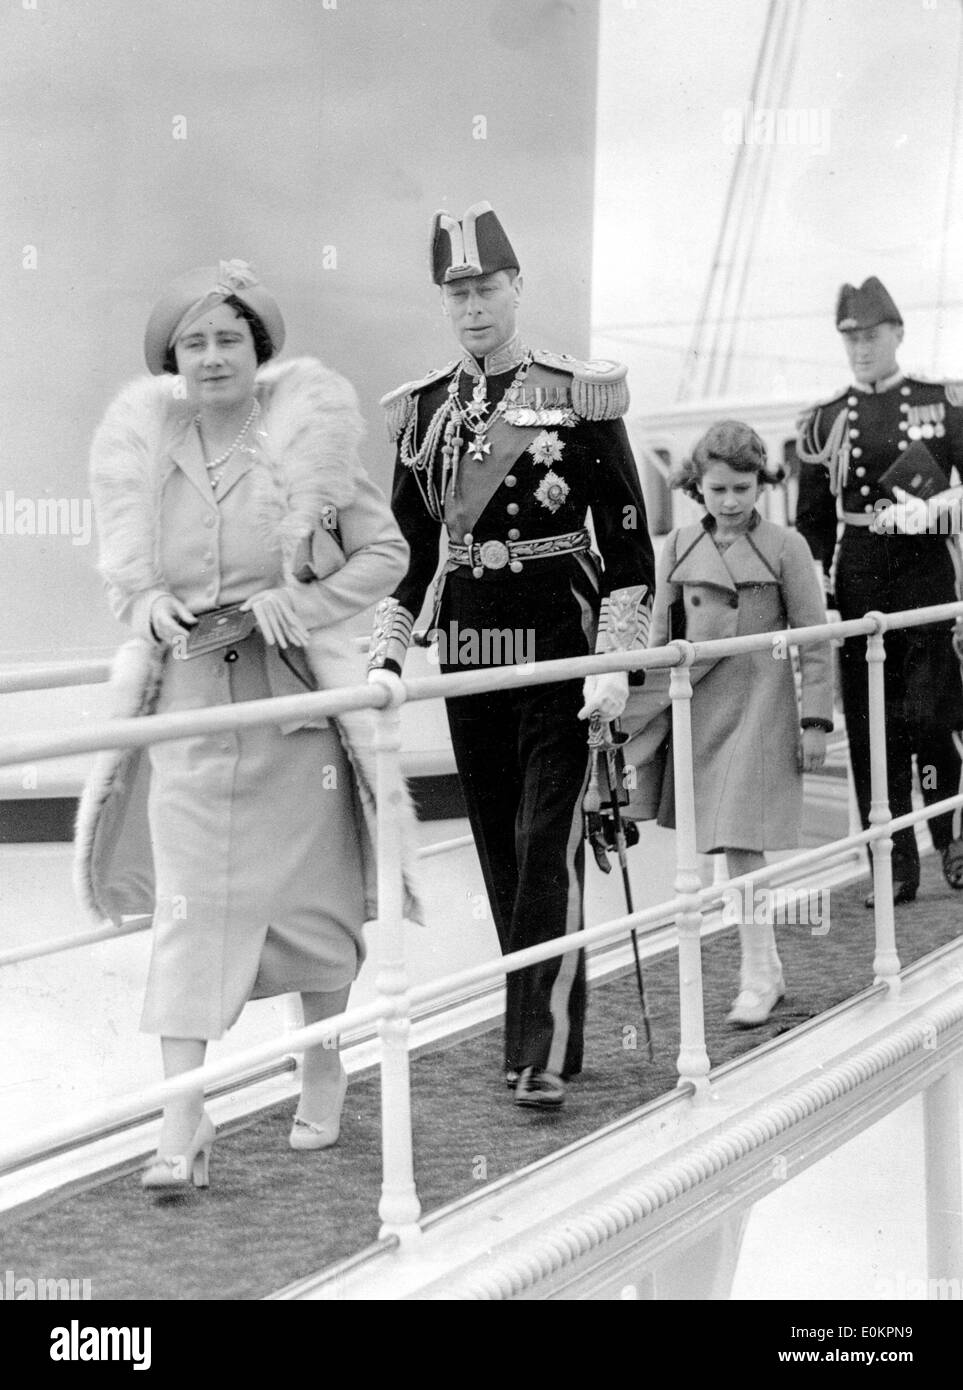
[[[171,377],[131,382],[108,407],[93,439],[90,486],[100,538],[99,569],[108,587],[125,594],[168,588],[158,563],[163,464],[168,443],[192,417],[175,389],[176,378]],[[299,542],[324,530],[329,506],[343,510],[359,493],[364,477],[357,452],[363,423],[350,384],[314,359],[263,367],[257,396],[264,461],[258,459],[256,464],[256,524],[279,539],[285,577],[290,581]],[[324,534],[334,546],[331,532]],[[343,564],[343,556],[336,563]],[[111,676],[113,717],[139,717],[154,710],[165,656],[161,645],[145,638],[121,646]],[[306,656],[321,689],[365,682],[364,657],[343,623],[313,628]],[[350,710],[332,723],[354,774],[365,905],[374,917],[374,714]],[[101,752],[81,796],[74,883],[97,923],[153,912],[154,876],[146,821],[149,771],[146,749]],[[415,817],[407,791],[396,813],[403,827],[406,915],[421,920],[413,873]]]

